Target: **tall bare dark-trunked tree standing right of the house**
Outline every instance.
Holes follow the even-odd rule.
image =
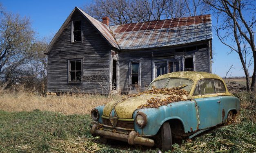
[[[228,46],[231,52],[237,52],[246,77],[248,91],[254,91],[256,79],[255,5],[251,0],[204,0],[209,4],[217,18],[214,26],[218,39]],[[245,17],[246,16],[246,17]],[[254,64],[252,83],[248,68]]]

